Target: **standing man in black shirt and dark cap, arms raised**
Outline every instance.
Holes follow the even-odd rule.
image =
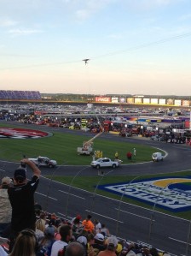
[[[21,160],[22,164],[33,172],[31,180],[26,179],[26,169],[14,170],[14,186],[8,188],[9,200],[12,206],[10,249],[14,245],[14,239],[22,229],[35,230],[34,193],[38,188],[41,171],[37,165],[27,158]]]

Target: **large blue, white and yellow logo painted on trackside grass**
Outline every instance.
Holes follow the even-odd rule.
[[[99,186],[107,192],[117,193],[169,211],[191,209],[191,176],[164,177]]]

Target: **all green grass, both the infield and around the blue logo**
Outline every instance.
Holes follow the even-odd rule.
[[[18,126],[8,125],[8,123],[1,123],[0,127],[11,127],[18,128]],[[26,126],[23,126],[26,128]],[[31,128],[28,126],[28,128]],[[34,128],[41,130],[40,127]],[[51,128],[47,128],[47,131],[51,131]],[[92,137],[95,134],[92,134]],[[19,162],[23,155],[26,155],[26,158],[36,158],[38,156],[46,156],[52,159],[55,159],[58,164],[67,164],[67,165],[90,165],[92,161],[92,156],[81,156],[77,153],[77,147],[82,146],[83,141],[90,140],[90,136],[87,137],[82,134],[81,131],[78,131],[78,134],[68,134],[61,132],[54,132],[52,136],[44,137],[42,139],[0,139],[0,158],[1,160],[9,160]],[[136,147],[136,157],[132,158],[132,161],[126,158],[126,152],[133,152],[133,148]],[[137,145],[134,143],[128,142],[128,139],[124,141],[115,141],[108,140],[107,136],[104,138],[97,138],[94,140],[94,150],[103,152],[103,157],[114,158],[116,151],[119,152],[119,158],[123,161],[123,164],[135,164],[141,162],[151,161],[151,155],[153,152],[159,151],[153,147],[144,145]],[[149,175],[149,176],[140,176],[140,179],[149,178],[149,177],[159,177],[160,175]],[[165,176],[165,175],[162,175]],[[166,176],[169,176],[166,174]],[[171,174],[172,176],[172,174]],[[175,173],[173,176],[189,176],[188,172]],[[130,182],[135,176],[78,176],[78,179],[73,180],[73,176],[54,176],[49,178],[54,179],[55,181],[63,182],[68,185],[72,185],[77,188],[83,188],[87,191],[95,193],[96,185],[101,184],[111,184],[118,182]],[[136,179],[138,181],[138,179]],[[113,199],[120,199],[120,196],[96,190],[96,193],[106,195]],[[123,201],[129,202],[135,205],[141,205],[145,208],[153,209],[153,206],[138,202],[133,199],[123,198]],[[177,212],[172,213],[170,211],[165,211],[156,206],[157,211],[163,211],[165,213],[190,219],[191,211]]]

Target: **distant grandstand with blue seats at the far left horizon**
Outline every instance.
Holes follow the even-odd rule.
[[[39,100],[41,99],[38,91],[13,91],[0,90],[0,100]]]

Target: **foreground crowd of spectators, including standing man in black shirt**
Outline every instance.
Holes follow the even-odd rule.
[[[34,202],[41,171],[29,159],[0,187],[0,256],[167,256],[111,235],[106,223],[88,214],[71,220],[43,211]],[[25,166],[33,173],[27,180]]]

